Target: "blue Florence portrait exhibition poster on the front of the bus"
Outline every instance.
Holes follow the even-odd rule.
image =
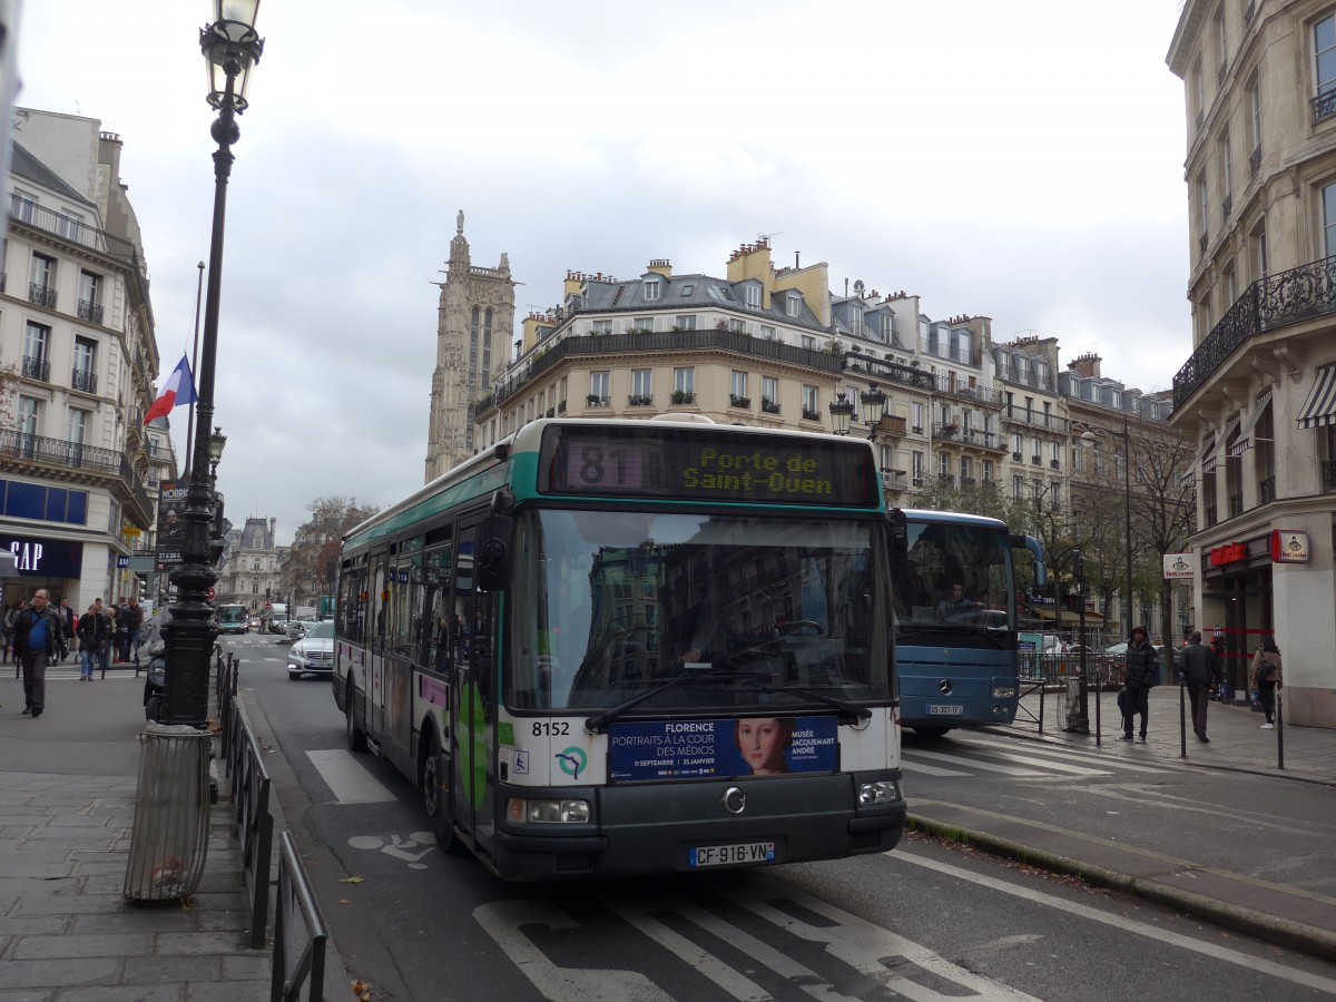
[[[643,720],[608,728],[613,783],[839,768],[834,716]]]

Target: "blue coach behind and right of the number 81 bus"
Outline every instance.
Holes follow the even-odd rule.
[[[921,735],[1009,724],[1019,700],[1013,548],[1039,542],[1005,522],[954,512],[904,512],[907,546],[895,560],[900,724]]]

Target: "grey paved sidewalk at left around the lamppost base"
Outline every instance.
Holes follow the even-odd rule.
[[[33,720],[20,715],[13,667],[0,667],[0,999],[267,998],[270,951],[246,946],[232,804],[211,808],[204,878],[188,907],[127,902],[143,676],[69,675],[69,663],[48,672]]]

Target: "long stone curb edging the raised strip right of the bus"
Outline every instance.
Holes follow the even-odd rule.
[[[1075,860],[1058,852],[1025,846],[998,835],[934,822],[914,812],[910,812],[906,824],[927,835],[947,838],[953,842],[974,846],[997,856],[1014,859],[1018,863],[1027,863],[1065,876],[1075,876],[1097,887],[1122,891],[1124,894],[1142,898],[1156,904],[1177,908],[1178,911],[1208,919],[1226,929],[1248,933],[1277,946],[1300,950],[1325,961],[1336,961],[1336,933],[1327,929],[1295,922],[1293,919],[1284,919],[1269,912],[1232,904],[1202,894],[1184,891],[1150,878],[1130,876],[1129,874]],[[1182,860],[1176,862],[1186,871],[1222,872]],[[1234,874],[1226,875],[1237,879]]]

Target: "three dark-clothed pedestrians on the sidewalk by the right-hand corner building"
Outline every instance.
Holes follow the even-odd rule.
[[[1201,643],[1201,632],[1192,631],[1182,648],[1173,655],[1174,668],[1188,689],[1192,700],[1192,729],[1201,744],[1209,744],[1206,736],[1206,711],[1210,693],[1224,681],[1224,659],[1220,652],[1220,637],[1210,645]],[[1128,668],[1124,676],[1124,689],[1118,693],[1118,707],[1122,709],[1121,741],[1133,740],[1137,717],[1141,720],[1138,741],[1146,740],[1146,719],[1150,713],[1150,689],[1160,677],[1160,652],[1150,643],[1146,631],[1134,627],[1128,643]],[[1269,635],[1261,639],[1261,647],[1253,656],[1249,672],[1249,688],[1257,693],[1257,701],[1267,715],[1264,729],[1275,728],[1276,689],[1283,687],[1280,648]]]

